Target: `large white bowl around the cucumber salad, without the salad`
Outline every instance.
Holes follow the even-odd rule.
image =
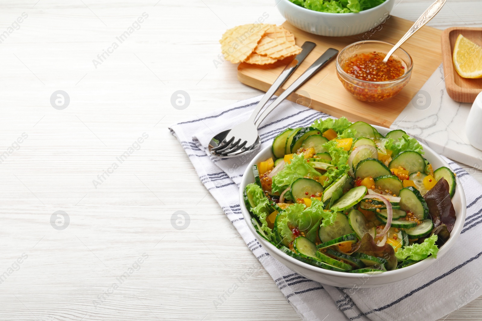
[[[388,128],[383,128],[379,126],[374,126],[378,132],[385,135],[388,133]],[[450,166],[443,160],[443,158],[435,153],[432,149],[430,149],[425,144],[422,144],[424,151],[425,151],[425,158],[428,159],[430,164],[432,164],[433,168],[439,168],[442,166],[449,167]],[[458,180],[457,185],[455,188],[455,195],[452,198],[452,203],[455,207],[455,213],[457,219],[455,221],[454,230],[452,231],[449,240],[447,243],[443,244],[437,254],[437,258],[428,257],[425,260],[422,260],[418,263],[415,263],[411,266],[400,270],[392,270],[386,271],[379,274],[356,274],[356,273],[347,273],[347,272],[336,272],[330,270],[324,270],[318,267],[314,267],[307,263],[303,263],[298,261],[297,259],[288,256],[281,252],[278,248],[276,248],[273,244],[267,242],[262,237],[259,237],[256,231],[254,230],[253,224],[251,224],[251,214],[246,209],[244,205],[242,193],[244,188],[249,183],[254,182],[253,172],[251,171],[251,167],[253,164],[256,164],[260,161],[264,161],[269,157],[273,157],[271,153],[271,146],[267,146],[264,148],[259,154],[257,154],[254,159],[251,161],[249,166],[246,168],[244,172],[243,178],[241,180],[240,186],[240,204],[241,204],[241,211],[244,217],[244,220],[248,224],[249,229],[251,232],[256,236],[257,240],[263,247],[265,248],[268,253],[280,261],[282,264],[286,265],[289,269],[295,271],[298,274],[307,277],[313,281],[321,282],[323,284],[334,285],[334,286],[341,286],[347,288],[367,288],[367,287],[376,287],[381,285],[386,285],[392,282],[397,282],[406,278],[409,278],[418,272],[421,272],[427,269],[430,265],[432,265],[435,260],[442,260],[445,253],[455,244],[460,231],[462,231],[462,227],[464,225],[465,216],[466,216],[466,200],[464,190],[462,189],[462,184]]]

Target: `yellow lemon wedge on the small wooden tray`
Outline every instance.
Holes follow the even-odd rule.
[[[482,78],[482,47],[462,35],[455,41],[454,66],[464,78]]]

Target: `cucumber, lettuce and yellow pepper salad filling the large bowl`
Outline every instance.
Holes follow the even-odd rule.
[[[321,269],[381,273],[437,256],[455,224],[455,174],[403,130],[318,119],[287,128],[243,192],[258,234]]]

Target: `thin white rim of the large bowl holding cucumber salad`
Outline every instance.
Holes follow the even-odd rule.
[[[390,131],[390,128],[380,127],[380,126],[376,126],[376,125],[371,125],[371,126],[373,126],[375,129],[377,129],[379,132],[382,132],[382,133],[385,133],[385,134],[388,133],[388,131]],[[450,168],[449,164],[442,158],[442,156],[440,154],[436,153],[433,149],[428,147],[425,143],[423,143],[421,141],[419,141],[419,143],[422,145],[424,151],[428,151],[428,152],[432,153],[435,156],[435,158],[437,158],[439,161],[442,162],[443,166],[446,166],[446,167]],[[300,266],[301,268],[308,269],[308,270],[311,270],[313,272],[318,272],[318,273],[324,274],[326,276],[344,277],[344,278],[348,278],[350,280],[360,279],[360,277],[363,277],[363,276],[369,276],[370,278],[375,278],[375,279],[376,278],[387,278],[387,277],[390,277],[390,276],[399,275],[401,273],[407,273],[407,276],[405,278],[408,278],[412,275],[415,275],[415,274],[427,269],[430,265],[435,263],[436,258],[434,258],[433,256],[430,256],[430,257],[428,257],[426,259],[423,259],[421,261],[418,261],[417,263],[412,264],[408,267],[404,267],[403,269],[384,271],[383,273],[373,273],[373,274],[372,273],[348,273],[348,272],[338,272],[338,271],[325,270],[325,269],[322,269],[322,268],[318,268],[318,267],[309,265],[308,263],[301,262],[301,261],[295,259],[294,257],[290,257],[286,253],[283,253],[276,246],[274,246],[273,244],[264,240],[262,237],[258,236],[257,232],[254,230],[253,224],[251,223],[251,218],[252,218],[251,214],[246,209],[246,205],[244,204],[244,201],[243,201],[244,188],[246,187],[247,184],[250,183],[250,182],[247,182],[248,175],[246,175],[246,174],[251,170],[251,167],[255,163],[255,161],[257,160],[257,157],[260,154],[265,153],[267,150],[271,150],[270,145],[268,145],[265,148],[263,148],[262,150],[260,150],[253,157],[251,162],[246,167],[246,170],[244,171],[243,177],[241,179],[241,184],[240,184],[240,189],[239,189],[239,199],[240,199],[241,212],[242,212],[244,220],[246,221],[246,224],[248,225],[248,229],[253,233],[254,237],[258,240],[258,242],[260,242],[261,245],[263,245],[263,247],[265,247],[265,249],[266,248],[269,249],[269,251],[267,250],[268,253],[270,251],[273,251],[273,252],[278,251],[278,252],[276,252],[277,255],[283,257],[284,259],[288,260],[289,262],[291,262],[294,265]],[[467,216],[467,200],[465,198],[464,189],[462,188],[462,184],[461,184],[461,182],[460,182],[460,180],[458,179],[457,176],[455,176],[455,180],[456,180],[457,184],[456,184],[456,187],[455,187],[454,196],[457,193],[460,194],[460,201],[461,201],[461,208],[462,208],[462,211],[461,211],[461,213],[459,213],[459,216],[457,217],[457,219],[460,218],[459,222],[461,221],[461,223],[458,224],[457,228],[452,231],[449,240],[441,246],[441,248],[439,250],[439,253],[437,254],[437,259],[442,257],[445,253],[447,253],[450,250],[450,248],[455,244],[456,240],[458,239],[458,237],[460,235],[460,232],[462,231],[462,228],[464,227],[463,223],[465,222],[465,218]],[[283,264],[282,262],[280,262],[280,263]],[[419,267],[421,267],[420,270],[419,270]],[[415,273],[410,273],[410,271],[414,271],[414,270],[419,270],[419,271],[418,272],[415,271]],[[405,278],[403,278],[403,279],[405,279]],[[393,282],[396,282],[396,281],[393,281]]]

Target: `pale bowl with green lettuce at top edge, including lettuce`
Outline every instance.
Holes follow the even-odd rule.
[[[281,15],[301,30],[330,37],[352,36],[366,32],[363,38],[370,38],[375,31],[383,28],[395,0],[275,0],[275,2]]]

